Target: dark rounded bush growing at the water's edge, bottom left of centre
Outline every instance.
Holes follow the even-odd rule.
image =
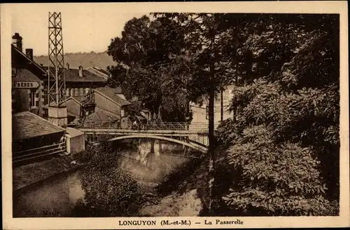
[[[118,168],[118,152],[111,144],[102,143],[78,159],[86,163],[81,178],[85,196],[77,203],[74,213],[94,217],[139,214],[143,201],[141,189],[129,173]]]

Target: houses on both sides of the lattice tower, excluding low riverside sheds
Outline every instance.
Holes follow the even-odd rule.
[[[48,67],[33,59],[33,50],[22,50],[22,37],[13,36],[12,51],[12,105],[13,113],[31,111],[48,117]],[[68,123],[94,112],[115,119],[127,116],[128,102],[121,88],[106,86],[109,74],[97,67],[64,69]],[[90,106],[89,105],[93,105]]]

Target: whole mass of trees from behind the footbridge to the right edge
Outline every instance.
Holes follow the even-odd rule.
[[[232,178],[217,175],[226,188],[218,205],[241,215],[338,215],[339,15],[153,16],[130,20],[111,42],[110,83],[169,121],[186,120],[185,105],[209,86],[235,86],[234,117],[216,132]]]

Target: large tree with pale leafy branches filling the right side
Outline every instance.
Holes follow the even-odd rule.
[[[241,175],[224,199],[253,215],[336,215],[339,18],[260,15],[255,23],[240,46],[252,55],[237,68],[237,121],[218,129]]]

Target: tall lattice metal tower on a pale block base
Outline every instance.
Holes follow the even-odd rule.
[[[66,126],[66,81],[61,13],[48,13],[48,118]],[[65,111],[64,111],[65,109]]]

